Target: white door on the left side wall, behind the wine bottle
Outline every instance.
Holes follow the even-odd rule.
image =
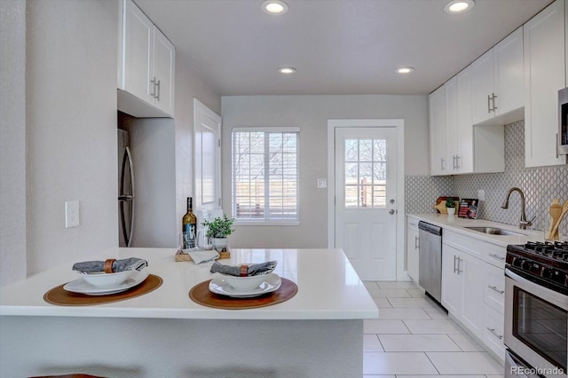
[[[221,208],[221,117],[193,99],[194,209]]]

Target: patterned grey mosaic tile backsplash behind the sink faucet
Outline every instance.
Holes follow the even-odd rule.
[[[533,229],[544,230],[548,224],[548,207],[558,198],[568,200],[568,166],[525,168],[525,122],[505,126],[505,172],[445,177],[407,176],[405,200],[407,213],[435,212],[432,205],[441,195],[477,198],[485,190],[477,217],[504,224],[517,225],[521,217],[518,193],[511,193],[509,209],[501,209],[509,188],[517,186],[525,193],[527,219],[536,217]],[[560,232],[568,235],[568,220],[560,224]]]

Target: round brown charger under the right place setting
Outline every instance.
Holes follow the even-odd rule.
[[[295,282],[282,277],[280,277],[280,280],[282,280],[282,284],[278,290],[252,298],[233,298],[232,296],[211,293],[209,291],[209,282],[211,280],[206,280],[192,287],[189,291],[189,297],[195,303],[216,309],[256,309],[288,301],[288,299],[296,295],[298,287]]]

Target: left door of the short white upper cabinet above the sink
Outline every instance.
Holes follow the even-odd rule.
[[[488,97],[493,95],[493,50],[485,52],[471,64],[473,93],[473,124],[484,122],[493,117]]]

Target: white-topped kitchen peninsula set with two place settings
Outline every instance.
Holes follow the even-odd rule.
[[[45,303],[45,292],[77,278],[75,262],[3,287],[0,375],[363,374],[363,319],[376,319],[378,310],[341,249],[233,250],[220,262],[277,260],[274,272],[298,287],[286,302],[248,310],[194,303],[189,290],[215,276],[210,264],[175,263],[174,254],[172,248],[117,248],[102,256],[144,258],[145,270],[163,280],[153,292],[122,302]]]

